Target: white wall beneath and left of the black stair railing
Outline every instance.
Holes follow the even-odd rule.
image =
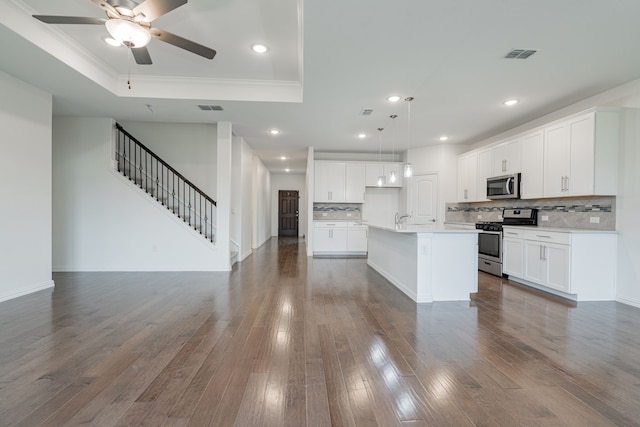
[[[113,169],[113,131],[111,119],[53,121],[54,269],[224,270],[213,244]]]

